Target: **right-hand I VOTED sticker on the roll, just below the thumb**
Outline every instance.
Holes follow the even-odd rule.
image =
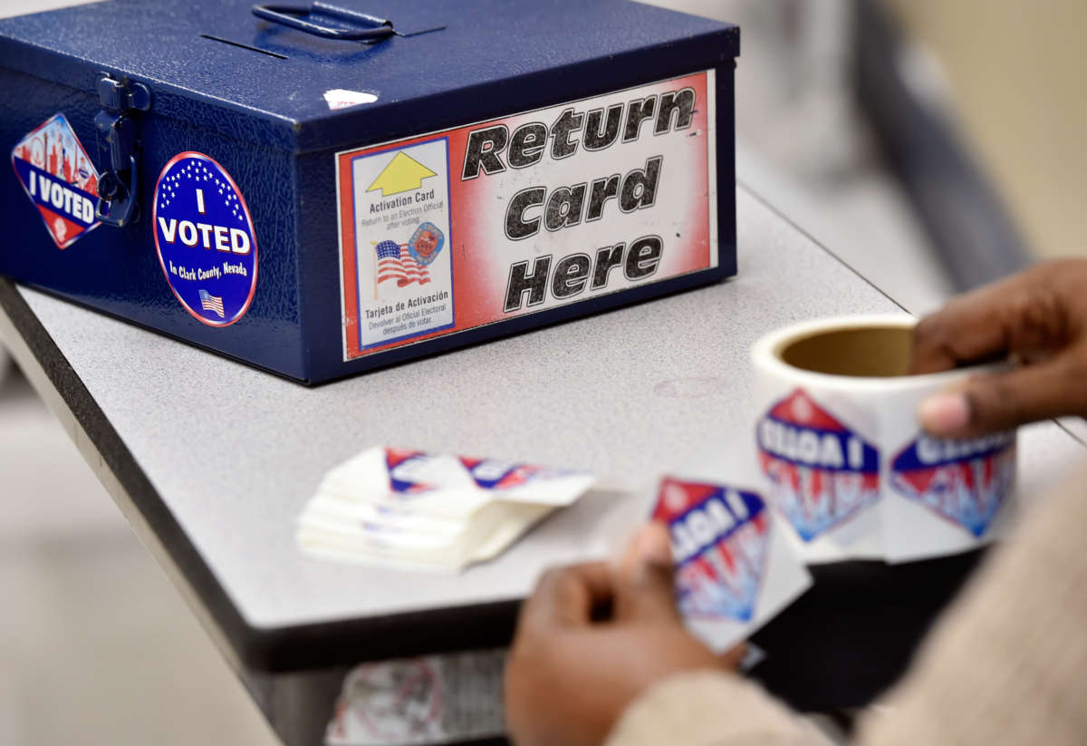
[[[890,478],[905,497],[979,537],[1015,485],[1015,436],[942,440],[920,434],[895,457]]]

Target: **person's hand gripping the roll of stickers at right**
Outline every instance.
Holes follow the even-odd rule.
[[[1087,260],[1040,264],[926,316],[914,332],[911,372],[1005,358],[1020,364],[925,399],[922,426],[963,438],[1087,414]]]

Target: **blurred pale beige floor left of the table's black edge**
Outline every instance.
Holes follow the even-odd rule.
[[[0,744],[275,744],[21,375],[0,385]]]

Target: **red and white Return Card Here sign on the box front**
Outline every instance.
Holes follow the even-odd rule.
[[[343,359],[717,265],[714,73],[336,154]]]

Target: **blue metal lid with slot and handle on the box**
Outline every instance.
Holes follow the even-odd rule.
[[[0,64],[87,91],[102,72],[125,75],[150,84],[157,114],[309,151],[571,100],[739,53],[735,26],[625,0],[329,2],[390,20],[404,35],[321,38],[255,17],[253,0],[107,0],[0,20]],[[683,59],[678,50],[670,58],[679,42]],[[430,107],[425,122],[421,102]]]

